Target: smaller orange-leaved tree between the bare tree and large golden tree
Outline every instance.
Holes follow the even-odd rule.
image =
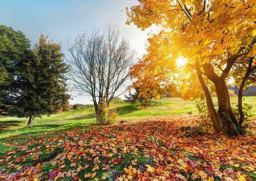
[[[160,43],[155,44],[160,45]],[[148,100],[150,102],[153,97],[158,100],[167,94],[178,94],[174,71],[170,71],[166,64],[154,61],[154,59],[161,59],[164,53],[159,50],[155,52],[147,49],[147,51],[150,51],[151,55],[144,55],[143,59],[139,59],[138,63],[131,67],[130,75],[133,83],[127,87],[130,92],[132,89],[136,90],[136,94],[130,95],[130,99],[136,100],[135,96],[137,95],[145,107],[147,107]]]

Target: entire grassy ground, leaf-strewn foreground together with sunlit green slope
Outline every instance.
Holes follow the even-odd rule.
[[[236,104],[236,99],[231,98],[231,104]],[[256,97],[244,99],[253,105],[255,113]],[[213,100],[217,102],[216,98]],[[198,174],[195,164],[206,173],[211,165],[215,166],[212,172],[220,169],[218,174],[226,174],[228,168],[232,168],[230,177],[256,179],[255,132],[236,139],[212,133],[187,138],[178,128],[195,126],[197,117],[184,115],[189,111],[197,114],[197,109],[194,103],[179,98],[153,100],[148,108],[123,101],[115,102],[114,106],[119,120],[130,121],[98,126],[92,106],[34,119],[31,126],[26,126],[27,119],[0,120],[0,180],[5,173],[13,179],[17,175],[34,180],[115,180],[118,177],[121,180],[121,176],[129,175],[136,180],[140,177],[161,180],[160,173],[167,179],[161,169],[172,178],[180,174],[193,180],[192,173]],[[251,130],[256,130],[255,121]],[[214,159],[208,159],[209,150],[215,155]],[[220,155],[228,157],[232,164]],[[243,155],[245,159],[241,159]],[[240,168],[234,167],[235,164]],[[187,169],[192,170],[188,173]],[[65,176],[57,177],[56,173]],[[221,180],[216,175],[212,178]]]

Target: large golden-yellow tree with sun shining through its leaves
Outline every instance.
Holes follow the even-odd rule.
[[[225,81],[238,58],[249,52],[255,56],[256,48],[252,44],[256,33],[254,1],[139,0],[139,3],[131,10],[126,8],[129,17],[126,24],[134,22],[142,30],[153,24],[162,28],[149,41],[148,49],[165,53],[161,55],[162,59],[151,58],[152,61],[174,64],[178,56],[186,57],[187,64],[193,69],[188,75],[196,71],[216,132],[239,135]],[[149,53],[147,58],[150,57]],[[218,111],[212,104],[208,80],[214,84],[217,93]]]

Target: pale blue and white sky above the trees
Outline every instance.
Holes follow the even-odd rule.
[[[129,0],[0,0],[0,24],[22,31],[32,46],[40,33],[49,34],[49,39],[61,43],[65,54],[68,54],[68,38],[72,41],[79,31],[115,24],[131,40],[140,58],[146,53],[144,44],[151,30],[125,25],[125,7],[134,4],[137,2]],[[88,96],[74,97],[70,103],[92,104],[90,100]]]

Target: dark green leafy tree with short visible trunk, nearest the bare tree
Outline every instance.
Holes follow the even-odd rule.
[[[28,125],[32,118],[56,113],[70,98],[64,76],[68,67],[63,62],[60,44],[47,38],[40,35],[30,56],[16,67],[19,77],[14,78],[9,92],[2,95],[1,111],[18,118],[29,117]],[[18,92],[13,91],[15,87]]]

